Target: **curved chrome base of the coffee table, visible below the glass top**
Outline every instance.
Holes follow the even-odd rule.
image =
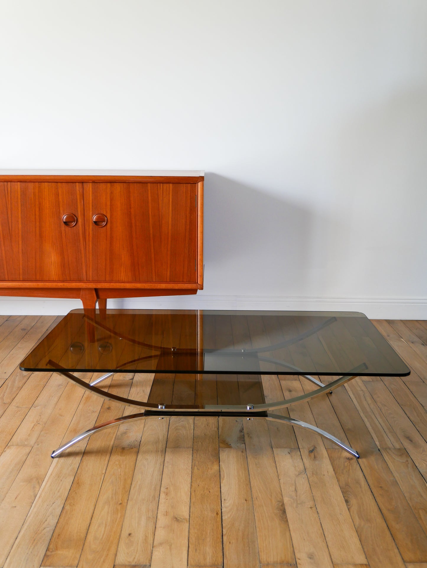
[[[356,458],[359,457],[359,454],[358,452],[356,452],[356,450],[350,448],[350,446],[347,446],[346,444],[344,444],[344,442],[338,440],[338,438],[335,438],[335,436],[329,434],[328,432],[325,432],[324,430],[321,430],[320,428],[317,428],[312,424],[302,422],[301,420],[297,420],[295,418],[289,418],[288,416],[281,416],[279,414],[272,414],[271,412],[269,412],[271,410],[285,408],[291,406],[292,404],[297,404],[299,402],[304,402],[306,400],[316,398],[316,396],[325,394],[328,391],[332,392],[334,389],[337,389],[339,386],[343,385],[348,381],[351,381],[351,379],[354,379],[356,376],[358,376],[356,374],[338,377],[337,379],[335,379],[335,381],[329,383],[329,385],[322,385],[321,382],[317,381],[316,379],[313,379],[313,377],[309,377],[308,375],[302,375],[309,381],[316,383],[316,385],[322,385],[322,386],[319,389],[316,389],[312,392],[306,392],[305,394],[302,394],[300,396],[295,396],[294,398],[287,400],[280,400],[277,402],[265,403],[265,404],[253,404],[253,405],[246,404],[240,406],[206,404],[204,408],[198,408],[198,407],[189,407],[181,405],[173,406],[167,404],[152,404],[148,402],[141,402],[140,400],[132,400],[124,398],[123,396],[118,396],[110,392],[105,392],[101,389],[98,389],[98,387],[94,386],[97,383],[106,379],[107,377],[110,377],[114,373],[107,373],[102,377],[92,381],[91,383],[86,383],[85,381],[82,381],[82,379],[75,377],[72,373],[68,373],[68,371],[63,370],[61,366],[55,363],[54,361],[49,361],[49,365],[55,368],[56,373],[59,373],[64,377],[67,377],[70,381],[82,387],[83,389],[89,390],[98,396],[102,396],[102,398],[109,400],[116,400],[117,402],[121,402],[123,404],[143,409],[143,412],[140,412],[139,414],[122,416],[120,418],[116,418],[115,420],[110,420],[103,424],[98,424],[97,426],[94,426],[93,428],[90,428],[89,430],[82,432],[80,435],[74,437],[72,440],[69,440],[66,444],[62,445],[60,448],[52,452],[51,454],[52,458],[59,456],[62,452],[64,452],[68,448],[71,448],[71,446],[73,446],[74,444],[77,444],[77,442],[84,440],[84,438],[92,436],[96,432],[100,432],[101,430],[105,430],[106,428],[110,428],[134,420],[142,420],[146,418],[159,419],[167,416],[216,416],[216,417],[236,416],[236,417],[247,418],[248,420],[254,418],[264,418],[267,420],[273,420],[276,422],[287,423],[291,424],[292,426],[299,426],[302,428],[309,429],[310,431],[320,436],[323,436],[328,440],[331,440],[332,442],[334,442],[334,444],[337,444],[338,446],[340,446],[340,448],[346,450],[346,452],[349,452],[352,456]],[[360,369],[359,367],[356,367],[356,369],[354,369],[352,373],[353,372],[356,373],[356,371],[361,370],[362,368],[364,368],[364,364],[363,366],[362,365],[360,366]]]

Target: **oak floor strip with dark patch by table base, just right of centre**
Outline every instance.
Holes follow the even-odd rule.
[[[224,566],[258,568],[258,541],[242,419],[219,419]]]

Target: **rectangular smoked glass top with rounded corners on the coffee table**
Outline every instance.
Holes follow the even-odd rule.
[[[52,362],[71,372],[409,374],[358,312],[73,310],[20,369],[50,371]]]

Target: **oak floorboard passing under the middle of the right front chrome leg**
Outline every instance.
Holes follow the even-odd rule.
[[[300,381],[282,381],[285,397],[299,396]],[[309,424],[314,417],[308,403],[289,408],[289,414]],[[366,563],[362,545],[327,456],[322,438],[303,428],[296,429],[302,461],[334,563]]]

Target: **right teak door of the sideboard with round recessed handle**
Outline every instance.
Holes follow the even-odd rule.
[[[197,282],[196,183],[84,183],[87,277]]]

